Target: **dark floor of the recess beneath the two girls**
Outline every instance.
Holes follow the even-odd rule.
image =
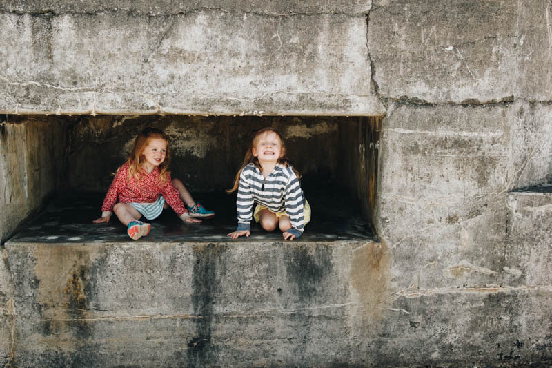
[[[337,193],[338,191],[335,191]],[[335,193],[308,192],[313,211],[302,242],[333,240],[374,240],[371,226],[360,215],[359,204],[351,198]],[[217,213],[214,219],[201,224],[184,224],[168,209],[152,220],[150,234],[138,242],[228,242],[226,234],[235,231],[235,195],[194,195],[207,209]],[[7,244],[83,244],[105,242],[128,242],[126,227],[116,217],[110,224],[92,224],[101,216],[103,195],[73,194],[57,200],[36,220],[21,227]],[[240,241],[264,242],[284,240],[280,231],[268,233],[258,224],[252,224],[249,238]]]

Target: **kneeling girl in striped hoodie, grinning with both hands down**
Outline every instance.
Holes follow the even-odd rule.
[[[301,176],[288,164],[282,135],[275,128],[262,128],[253,136],[252,144],[234,186],[237,190],[237,229],[229,233],[232,239],[250,235],[254,217],[263,229],[279,227],[286,240],[302,235],[311,220],[311,207],[306,202],[299,184]],[[256,204],[253,209],[253,204]]]

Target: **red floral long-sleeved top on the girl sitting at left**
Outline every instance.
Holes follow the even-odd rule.
[[[119,202],[123,203],[153,203],[159,199],[159,195],[163,195],[165,201],[179,217],[188,212],[180,199],[177,188],[172,185],[170,174],[167,173],[166,184],[161,184],[158,166],[155,166],[151,173],[140,168],[140,180],[137,180],[135,177],[128,177],[129,167],[130,164],[124,164],[115,174],[106,198],[103,200],[103,206],[101,206],[103,217],[110,215],[106,212],[113,212],[117,198],[119,198]]]

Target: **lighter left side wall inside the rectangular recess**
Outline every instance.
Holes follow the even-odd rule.
[[[64,124],[48,117],[0,122],[0,241],[59,186],[64,164]]]

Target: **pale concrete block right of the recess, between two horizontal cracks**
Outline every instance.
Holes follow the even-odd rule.
[[[497,283],[504,266],[509,106],[391,106],[377,233],[398,287]]]

